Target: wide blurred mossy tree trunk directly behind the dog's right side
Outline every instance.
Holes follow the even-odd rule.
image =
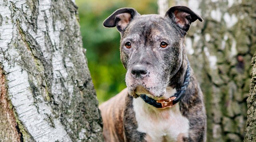
[[[204,93],[207,141],[241,142],[247,118],[250,61],[256,51],[256,2],[177,0],[176,4],[190,7],[204,19],[191,24],[185,44]]]

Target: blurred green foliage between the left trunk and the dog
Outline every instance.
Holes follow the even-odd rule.
[[[88,66],[102,103],[126,87],[126,70],[120,61],[120,34],[116,28],[104,28],[103,21],[123,7],[135,8],[140,14],[157,14],[156,0],[76,0],[76,4]]]

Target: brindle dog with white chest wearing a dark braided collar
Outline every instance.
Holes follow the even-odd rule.
[[[184,40],[202,18],[186,6],[164,16],[121,8],[104,27],[120,32],[127,88],[100,105],[106,142],[204,142],[203,94],[190,68]]]

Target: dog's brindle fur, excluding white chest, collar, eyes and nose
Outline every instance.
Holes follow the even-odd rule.
[[[175,12],[176,14],[177,12],[180,13],[175,15]],[[122,15],[124,13],[125,15]],[[152,97],[161,97],[166,91],[166,86],[173,87],[176,90],[179,90],[182,86],[187,68],[184,36],[190,25],[190,23],[187,24],[188,21],[177,22],[177,19],[180,18],[178,16],[183,15],[191,16],[190,23],[196,19],[202,21],[199,16],[184,6],[170,8],[166,16],[140,16],[132,8],[122,8],[105,20],[104,26],[117,26],[121,33],[121,61],[127,69],[126,85],[128,87],[128,89],[124,89],[121,93],[100,105],[104,123],[103,134],[106,142],[146,141],[146,133],[137,131],[138,124],[132,105],[133,99],[138,97],[134,92],[138,85],[143,85],[146,91],[152,94]],[[182,25],[184,23],[185,25]],[[158,49],[157,47],[159,47],[162,40],[168,41],[168,45],[171,47]],[[127,41],[132,43],[133,49],[125,48]],[[148,74],[145,78],[155,77],[153,78],[156,82],[155,86],[150,86],[150,83],[145,79],[136,79],[130,76],[131,68],[138,63],[146,65],[148,68]],[[178,105],[180,105],[182,115],[189,120],[190,126],[188,138],[181,134],[178,141],[205,141],[206,112],[203,94],[192,69],[190,83]]]

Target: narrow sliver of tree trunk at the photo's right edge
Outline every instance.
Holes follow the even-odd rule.
[[[244,142],[256,141],[256,53],[252,58],[252,82],[250,95],[247,99],[247,124]]]

